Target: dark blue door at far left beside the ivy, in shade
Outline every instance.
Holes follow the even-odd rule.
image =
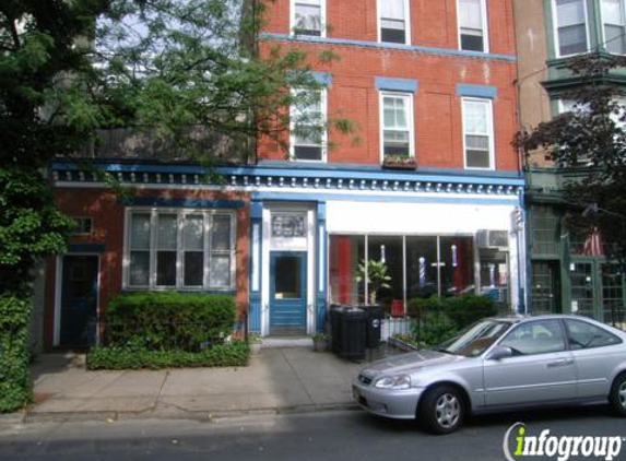
[[[97,256],[63,257],[60,346],[85,347],[95,344],[97,276]]]

